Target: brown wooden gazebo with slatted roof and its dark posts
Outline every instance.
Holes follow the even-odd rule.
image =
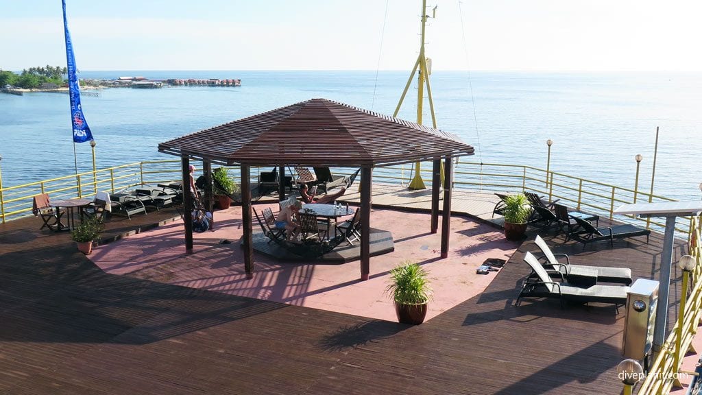
[[[252,165],[361,167],[361,278],[370,273],[369,227],[373,167],[432,160],[431,231],[439,224],[439,184],[444,160],[442,258],[449,251],[451,219],[451,158],[472,155],[473,148],[457,136],[402,119],[380,115],[351,105],[316,98],[277,110],[239,119],[218,127],[159,144],[159,152],[181,158],[183,185],[189,182],[190,160],[241,167],[241,204],[244,226],[244,267],[253,276],[253,224],[251,216]],[[279,191],[284,195],[284,186]],[[192,198],[185,196],[185,212]],[[192,252],[192,223],[185,221],[185,248]]]

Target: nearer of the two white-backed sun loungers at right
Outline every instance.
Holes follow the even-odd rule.
[[[531,252],[527,252],[524,255],[524,261],[531,267],[537,281],[531,280],[531,277],[524,281],[522,290],[517,297],[517,306],[519,306],[519,301],[522,297],[557,297],[560,299],[561,307],[564,306],[564,302],[567,300],[581,303],[611,303],[615,306],[626,304],[626,293],[629,287],[621,285],[592,285],[584,288],[567,283],[558,283],[551,280],[545,268],[541,266]]]

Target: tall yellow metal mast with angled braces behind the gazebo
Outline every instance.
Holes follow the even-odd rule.
[[[432,16],[431,18],[436,18],[436,11],[437,8],[436,6],[432,9]],[[407,94],[407,91],[409,90],[409,86],[412,83],[412,79],[414,78],[415,73],[417,70],[419,70],[419,75],[417,79],[417,123],[422,124],[422,111],[423,111],[423,102],[424,102],[424,84],[427,86],[427,96],[429,99],[429,108],[430,112],[432,114],[432,124],[436,128],[437,127],[437,119],[436,115],[434,114],[434,102],[432,101],[432,88],[431,84],[429,82],[429,75],[431,74],[431,60],[427,59],[424,56],[424,33],[425,33],[425,25],[427,22],[427,18],[430,18],[429,15],[427,15],[427,0],[422,0],[422,30],[420,34],[420,46],[419,46],[419,56],[417,58],[417,61],[414,63],[414,67],[412,69],[412,73],[409,76],[409,79],[407,80],[407,84],[404,86],[404,91],[402,91],[402,96],[399,98],[399,103],[397,103],[397,108],[395,108],[395,114],[393,114],[393,117],[397,117],[397,114],[399,113],[400,107],[402,107],[402,102],[404,101],[404,97]],[[443,167],[442,167],[442,179],[443,177]],[[420,175],[420,162],[416,162],[414,164],[414,178],[412,181],[409,183],[409,189],[426,189],[424,186],[424,181],[422,180],[422,176]]]

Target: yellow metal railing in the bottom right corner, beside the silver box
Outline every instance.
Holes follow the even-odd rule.
[[[694,270],[683,272],[682,290],[678,320],[665,339],[661,351],[651,365],[646,378],[640,384],[638,395],[668,394],[674,385],[679,386],[680,364],[687,351],[691,350],[692,339],[702,317],[702,216],[692,219],[689,229],[689,251],[695,259]],[[690,280],[691,278],[691,280]],[[689,290],[689,283],[692,290]]]

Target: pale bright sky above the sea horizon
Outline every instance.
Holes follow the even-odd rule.
[[[79,70],[411,70],[420,44],[420,0],[66,2]],[[60,3],[0,0],[0,69],[66,64]],[[702,72],[698,0],[427,4],[433,70]]]

